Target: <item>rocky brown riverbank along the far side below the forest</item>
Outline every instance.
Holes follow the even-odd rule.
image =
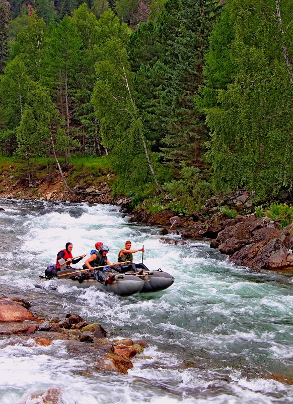
[[[65,176],[66,176],[65,172]],[[131,198],[114,198],[109,182],[113,174],[95,182],[92,186],[76,185],[75,194],[64,187],[59,171],[54,176],[46,176],[33,187],[25,187],[21,180],[14,179],[14,169],[2,172],[0,187],[3,198],[69,201],[88,203],[109,203],[121,206],[123,211],[131,215],[130,221],[147,225],[161,226],[161,234],[177,233],[181,239],[170,240],[162,238],[163,243],[186,243],[188,239],[210,240],[211,248],[218,248],[228,254],[230,260],[239,265],[262,270],[286,270],[293,272],[293,225],[283,230],[279,229],[278,220],[257,218],[253,211],[253,195],[246,190],[240,190],[229,196],[213,197],[206,201],[201,213],[192,217],[179,217],[178,222],[171,227],[174,212],[161,210],[152,214],[144,209],[133,210],[130,207]],[[288,203],[289,195],[283,195]],[[164,200],[169,201],[166,195]],[[226,213],[221,213],[223,206],[234,209],[242,215],[229,219]],[[1,207],[0,207],[1,208]],[[246,213],[246,214],[245,214]],[[248,213],[248,214],[247,214]]]

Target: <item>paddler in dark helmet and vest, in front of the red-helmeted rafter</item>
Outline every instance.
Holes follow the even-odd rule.
[[[97,245],[98,243],[96,243]],[[111,264],[111,262],[107,258],[107,254],[109,251],[109,247],[104,246],[103,244],[100,246],[99,250],[95,250],[93,254],[91,254],[90,258],[85,261],[84,268],[93,269],[97,266],[108,266],[104,269],[109,269],[109,267],[114,267],[120,265],[120,262],[116,262],[115,264]],[[107,276],[103,273],[103,268],[101,270],[92,271],[93,276],[101,283],[105,285],[111,284],[115,278],[115,275]]]

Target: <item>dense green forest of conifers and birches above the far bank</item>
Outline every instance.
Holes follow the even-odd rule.
[[[291,0],[0,0],[0,15],[0,147],[28,176],[36,157],[105,155],[116,194],[165,192],[187,214],[292,193]]]

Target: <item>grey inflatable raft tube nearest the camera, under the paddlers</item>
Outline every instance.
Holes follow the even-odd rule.
[[[111,275],[112,273],[109,273]],[[123,277],[121,277],[123,276]],[[50,282],[50,283],[49,283]],[[82,283],[78,280],[62,277],[62,278],[53,278],[47,279],[46,277],[40,277],[38,282],[35,284],[35,287],[40,287],[42,289],[47,289],[47,285],[50,285],[49,288],[52,290],[57,289],[58,284],[69,284],[75,285],[77,287],[90,287],[95,286],[100,291],[112,292],[118,296],[131,296],[137,292],[140,292],[141,288],[144,286],[144,281],[139,277],[132,274],[117,274],[117,278],[113,280],[113,283],[110,285],[104,285],[99,282],[95,278],[85,279]]]

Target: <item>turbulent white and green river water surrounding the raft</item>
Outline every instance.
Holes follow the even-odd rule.
[[[1,339],[1,404],[34,404],[32,394],[49,387],[61,388],[60,404],[293,403],[284,382],[293,380],[291,278],[236,266],[205,241],[163,244],[159,228],[128,223],[116,206],[3,199],[0,207],[2,294],[28,300],[39,316],[74,312],[99,322],[110,339],[150,341],[122,375],[70,358],[61,340],[40,347],[33,338]],[[175,277],[170,288],[122,298],[35,287],[66,242],[75,257],[102,241],[116,262],[128,239],[144,246],[146,266]],[[134,257],[141,261],[140,252]]]

